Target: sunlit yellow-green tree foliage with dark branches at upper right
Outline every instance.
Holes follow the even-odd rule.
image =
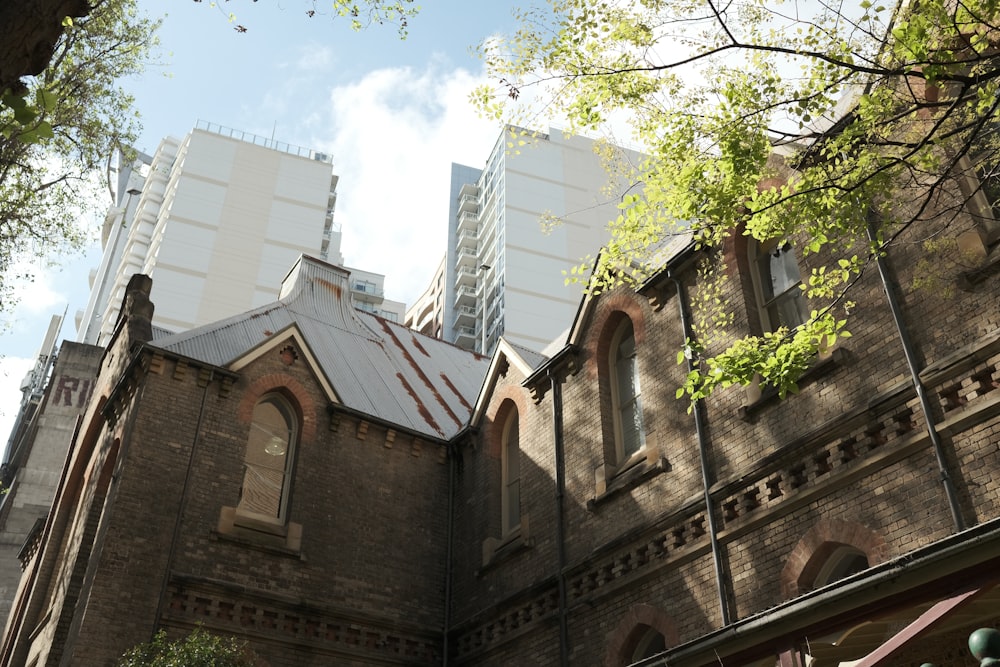
[[[641,281],[679,233],[708,254],[746,235],[811,255],[800,326],[720,343],[728,304],[702,300],[679,396],[755,377],[794,391],[849,335],[851,287],[904,232],[975,234],[996,254],[996,0],[550,0],[519,18],[481,47],[501,94],[476,91],[480,109],[519,126],[624,123],[648,155],[610,244],[578,269],[588,289]]]

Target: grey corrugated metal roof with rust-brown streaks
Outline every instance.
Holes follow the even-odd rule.
[[[350,305],[350,274],[311,257],[278,301],[151,345],[228,367],[295,326],[342,403],[431,438],[469,421],[488,360]]]

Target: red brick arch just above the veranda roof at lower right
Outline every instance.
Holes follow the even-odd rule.
[[[856,521],[820,519],[788,556],[781,571],[782,599],[788,600],[808,591],[831,555],[842,546],[858,549],[869,565],[888,559],[885,540]]]

